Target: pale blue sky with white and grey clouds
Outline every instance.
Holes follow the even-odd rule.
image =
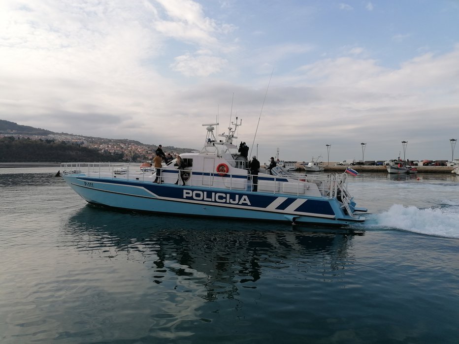
[[[451,159],[459,1],[0,1],[2,120],[199,149],[236,116],[261,161]]]

